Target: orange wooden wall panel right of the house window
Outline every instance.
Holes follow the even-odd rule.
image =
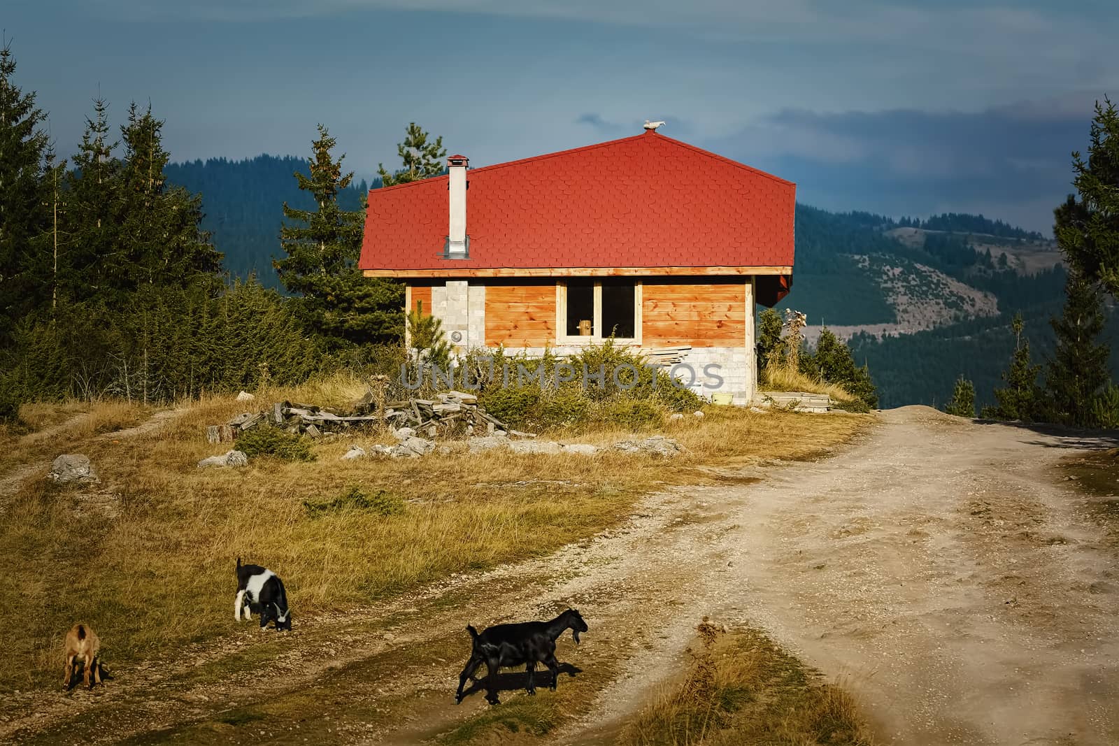
[[[641,287],[641,347],[744,347],[743,282],[659,283]]]

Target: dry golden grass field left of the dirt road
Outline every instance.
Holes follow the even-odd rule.
[[[254,404],[346,398],[349,386],[336,380],[272,391]],[[110,667],[232,631],[237,556],[282,574],[297,616],[352,607],[453,572],[551,553],[621,521],[637,498],[659,485],[716,479],[700,466],[807,457],[868,422],[712,407],[702,419],[688,416],[666,428],[688,448],[670,463],[504,452],[342,462],[351,441],[340,440],[317,444],[311,463],[260,459],[242,470],[198,470],[199,459],[228,447],[208,445],[205,426],[248,408],[232,397],[209,398],[159,431],[112,438],[95,434],[134,424],[138,412],[98,405],[46,442],[12,438],[8,451],[17,463],[81,452],[102,482],[57,489],[32,480],[7,506],[0,639],[10,664],[0,672],[0,691],[57,678],[62,635],[79,618],[101,633]],[[304,508],[354,485],[383,490],[404,510],[314,516]]]

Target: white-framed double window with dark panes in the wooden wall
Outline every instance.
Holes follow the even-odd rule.
[[[632,280],[570,280],[556,289],[558,342],[640,342],[641,285]]]

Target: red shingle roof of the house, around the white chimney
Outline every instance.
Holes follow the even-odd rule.
[[[369,191],[359,266],[792,265],[796,185],[653,132],[467,178],[469,259],[442,258],[444,176]]]

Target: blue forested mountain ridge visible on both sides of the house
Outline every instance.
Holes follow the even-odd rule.
[[[282,205],[312,209],[291,155],[175,163],[168,180],[203,196],[209,230],[226,270],[255,273],[278,287]],[[340,195],[358,209],[374,183]],[[1035,360],[1052,347],[1047,319],[1061,312],[1065,273],[1054,242],[981,215],[946,213],[925,220],[873,213],[828,213],[797,205],[793,287],[780,308],[808,314],[809,334],[826,323],[869,365],[882,406],[943,403],[957,376],[991,400],[1013,349],[1009,319],[1026,318]]]

